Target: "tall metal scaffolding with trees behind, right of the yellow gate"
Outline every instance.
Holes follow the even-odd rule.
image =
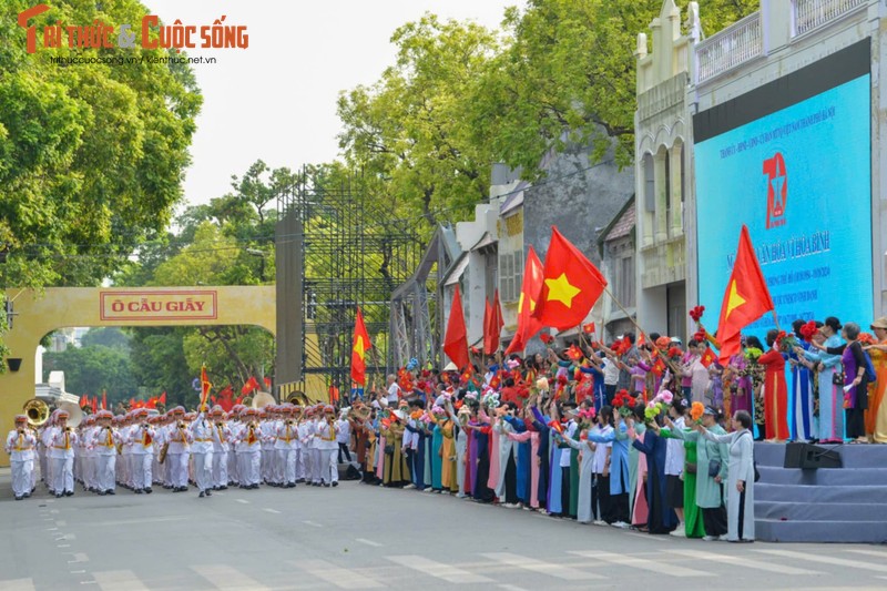
[[[365,193],[360,177],[343,180],[324,169],[306,169],[277,203],[278,218],[295,212],[300,222],[300,232],[292,240],[302,253],[302,381],[317,383],[316,376],[322,376],[327,389],[336,385],[341,394],[353,386],[357,306],[373,342],[367,387],[374,380],[384,386],[384,375],[391,367],[391,294],[422,254],[409,224],[394,220],[391,212],[374,205]],[[313,399],[327,394],[303,391]]]

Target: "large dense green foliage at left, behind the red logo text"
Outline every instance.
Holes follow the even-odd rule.
[[[0,285],[89,285],[163,231],[182,195],[201,95],[182,65],[70,64],[50,57],[159,58],[164,50],[38,48],[0,9]],[[57,0],[42,28],[139,23],[136,0]],[[40,45],[40,43],[39,43]]]

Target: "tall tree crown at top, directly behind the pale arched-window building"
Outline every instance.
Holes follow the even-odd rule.
[[[686,1],[679,2],[686,14]],[[714,33],[750,14],[758,0],[702,0]],[[648,31],[662,0],[529,0],[506,11],[510,42],[470,96],[475,141],[492,142],[497,159],[537,180],[550,150],[594,146],[599,161],[634,157],[635,35]]]

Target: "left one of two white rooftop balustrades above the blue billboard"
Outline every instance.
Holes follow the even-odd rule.
[[[761,12],[754,12],[696,45],[696,84],[763,53]]]

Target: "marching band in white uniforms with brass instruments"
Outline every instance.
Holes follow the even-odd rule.
[[[35,490],[35,461],[57,498],[72,496],[75,481],[99,496],[115,495],[118,486],[150,495],[154,486],[184,492],[193,485],[201,498],[230,486],[336,487],[343,448],[348,452],[346,415],[329,405],[175,407],[163,415],[140,408],[100,410],[72,428],[68,412],[57,410],[39,429],[17,416],[6,449],[16,500]]]

